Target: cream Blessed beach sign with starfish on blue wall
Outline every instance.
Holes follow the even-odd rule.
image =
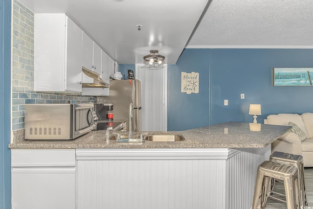
[[[181,92],[199,93],[199,72],[181,72]]]

